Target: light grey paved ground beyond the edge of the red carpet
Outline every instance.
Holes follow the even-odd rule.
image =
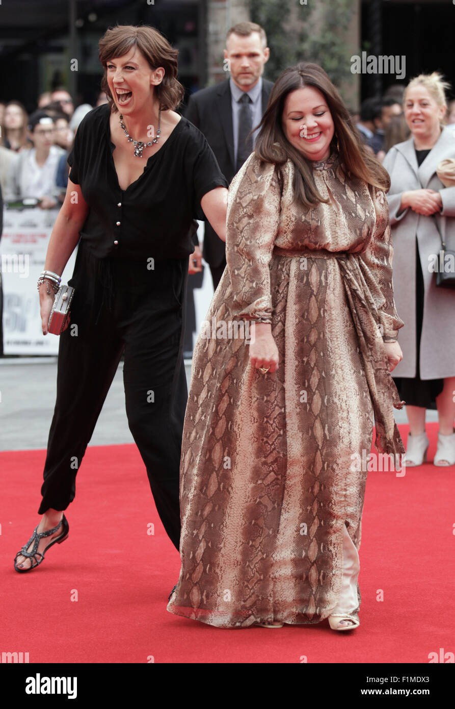
[[[186,360],[186,379],[191,362]],[[120,362],[90,445],[133,443],[125,415]],[[0,357],[0,450],[47,447],[47,435],[55,404],[57,357]],[[397,423],[406,423],[405,411],[396,411]],[[427,420],[437,420],[427,411]]]

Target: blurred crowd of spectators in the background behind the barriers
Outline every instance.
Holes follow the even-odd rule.
[[[365,99],[352,118],[361,140],[383,161],[388,150],[410,135],[403,116],[403,86],[390,86],[381,98]],[[106,103],[99,94],[96,105]],[[4,201],[37,200],[43,209],[62,203],[67,188],[67,156],[82,118],[92,106],[74,109],[67,89],[57,86],[38,97],[28,115],[21,101],[0,101],[0,187]],[[449,102],[446,124],[455,123],[455,99]]]

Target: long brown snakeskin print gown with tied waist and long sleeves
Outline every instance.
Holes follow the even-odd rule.
[[[293,169],[253,152],[232,179],[228,266],[193,354],[181,571],[167,610],[218,627],[327,618],[343,525],[360,546],[366,471],[353,456],[371,451],[373,414],[376,451],[405,452],[383,349],[403,326],[386,196],[345,179],[332,153],[313,163],[330,201],[302,213]],[[274,373],[249,364],[245,337],[222,324],[255,318],[271,322]],[[357,595],[360,606],[358,584]]]

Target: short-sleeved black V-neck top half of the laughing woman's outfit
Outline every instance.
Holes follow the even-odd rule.
[[[108,104],[87,113],[68,156],[69,179],[80,185],[89,205],[81,239],[99,258],[189,256],[193,220],[204,218],[201,198],[229,186],[205,136],[182,116],[147,164],[142,158],[144,172],[123,191],[112,157],[110,115]]]

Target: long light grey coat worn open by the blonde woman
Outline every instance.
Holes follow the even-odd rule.
[[[455,376],[455,289],[436,287],[436,274],[430,270],[432,256],[441,250],[441,239],[432,216],[412,209],[400,211],[403,192],[434,189],[442,197],[442,211],[436,214],[446,248],[455,251],[455,186],[444,187],[436,169],[442,160],[455,158],[455,125],[443,128],[439,140],[418,167],[414,138],[394,145],[383,166],[391,176],[387,194],[393,239],[393,289],[398,316],[405,323],[398,332],[403,360],[392,376],[416,375],[416,296],[415,247],[419,245],[425,285],[422,336],[420,339],[421,379]],[[433,267],[434,268],[434,267]]]

